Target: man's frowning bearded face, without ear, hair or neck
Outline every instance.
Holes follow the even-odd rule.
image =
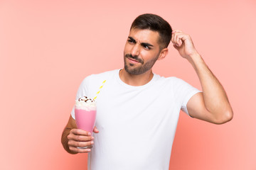
[[[132,28],[124,46],[124,69],[129,74],[143,74],[153,67],[161,54],[159,33]]]

